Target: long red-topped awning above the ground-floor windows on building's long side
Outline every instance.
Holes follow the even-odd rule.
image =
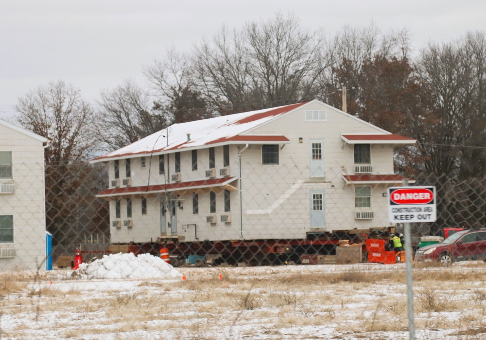
[[[143,185],[123,188],[110,188],[97,194],[96,197],[103,197],[106,199],[119,197],[133,197],[135,195],[150,195],[150,194],[164,194],[164,193],[181,193],[190,191],[193,193],[205,193],[209,191],[236,191],[238,188],[230,185],[236,177],[223,178],[209,178],[202,180],[191,180],[187,182],[175,182],[169,184]]]

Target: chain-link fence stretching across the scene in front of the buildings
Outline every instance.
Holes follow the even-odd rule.
[[[166,174],[166,185],[141,183],[136,166],[142,165],[132,164],[132,183],[121,178],[112,187],[105,163],[45,164],[44,203],[44,178],[35,176],[42,164],[19,164],[15,180],[1,183],[2,268],[44,268],[45,231],[52,235],[53,267],[70,265],[76,248],[85,261],[110,252],[159,255],[167,248],[174,265],[203,266],[335,263],[347,246],[361,248],[359,260],[367,261],[366,239],[382,239],[392,251],[391,232],[403,232],[388,222],[387,187],[400,186],[397,181],[350,184],[343,169],[326,179],[295,181],[293,170],[280,166],[258,177],[218,173],[204,183]],[[437,221],[412,224],[414,251],[448,236],[447,228],[485,225],[486,178],[409,177],[417,186],[436,187]],[[110,196],[97,197],[106,190]],[[469,248],[478,249],[451,251],[452,260],[483,258],[482,234],[474,237]],[[357,261],[352,254],[344,261]]]

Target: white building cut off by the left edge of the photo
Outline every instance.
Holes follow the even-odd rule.
[[[0,270],[46,268],[47,142],[0,120]]]

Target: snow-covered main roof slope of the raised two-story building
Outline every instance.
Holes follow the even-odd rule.
[[[307,102],[174,124],[167,129],[153,133],[135,143],[112,151],[104,156],[94,158],[91,162],[104,162],[109,159],[126,158],[130,155],[146,153],[163,154],[180,149],[198,148],[228,142],[232,142],[233,144],[238,142],[286,143],[289,142],[289,139],[281,134],[242,134],[305,104]]]

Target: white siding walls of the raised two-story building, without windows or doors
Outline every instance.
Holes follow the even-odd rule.
[[[305,121],[305,110],[326,110],[327,121]],[[240,189],[242,185],[242,207],[240,192],[231,192],[231,211],[224,211],[224,191],[216,191],[216,213],[209,213],[209,191],[199,192],[199,212],[192,213],[192,193],[178,193],[177,200],[182,209],[177,208],[177,235],[186,242],[223,241],[239,239],[303,239],[312,230],[310,225],[310,192],[322,190],[326,212],[325,230],[332,231],[352,228],[386,227],[387,198],[384,186],[372,187],[372,220],[355,220],[354,187],[345,186],[344,174],[354,174],[353,146],[347,145],[341,134],[346,133],[382,133],[355,117],[343,114],[319,103],[300,108],[279,119],[260,126],[249,134],[283,134],[291,143],[280,145],[279,164],[263,165],[261,145],[249,145],[242,152],[241,183],[232,184]],[[302,138],[302,143],[299,143]],[[311,139],[323,139],[323,157],[325,177],[310,177]],[[264,144],[264,143],[262,143]],[[198,149],[197,171],[192,171],[191,151],[181,152],[181,180],[207,179],[209,169],[208,148]],[[230,145],[231,176],[239,178],[239,150],[244,145]],[[140,168],[140,156],[131,161],[132,186],[165,184],[166,178],[158,173],[158,155],[145,155],[146,167]],[[216,177],[223,167],[223,146],[215,147]],[[373,173],[393,173],[393,148],[390,145],[371,145],[371,163]],[[169,167],[165,156],[165,171],[174,174],[174,154],[170,155]],[[110,183],[113,179],[113,161],[109,162]],[[149,177],[150,170],[150,180]],[[125,176],[124,161],[120,161],[120,179]],[[171,180],[172,182],[172,180]],[[334,189],[331,187],[334,186]],[[160,232],[159,197],[147,199],[147,216],[140,214],[140,198],[132,198],[133,228],[112,227],[112,242],[150,242],[156,240]],[[126,219],[126,204],[121,198],[121,220]],[[241,214],[242,212],[242,214]],[[114,203],[110,203],[110,217],[114,219]],[[221,222],[221,215],[231,215],[231,223]],[[216,223],[209,224],[206,217],[216,215]],[[189,226],[191,225],[191,227]],[[192,225],[196,225],[194,228]],[[197,231],[195,230],[197,228]],[[197,239],[196,239],[197,232]]]

